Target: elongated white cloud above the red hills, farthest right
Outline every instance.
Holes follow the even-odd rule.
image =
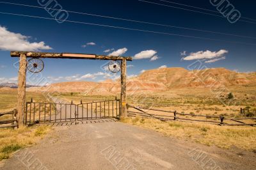
[[[227,54],[227,50],[219,50],[218,52],[214,51],[211,52],[210,50],[206,51],[198,51],[198,52],[192,52],[189,54],[189,56],[186,56],[184,60],[194,60],[194,59],[213,59],[213,58],[220,58],[224,54]]]

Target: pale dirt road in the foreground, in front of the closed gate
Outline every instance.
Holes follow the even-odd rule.
[[[238,154],[98,121],[53,127],[40,144],[17,151],[0,169],[256,169],[252,152]]]

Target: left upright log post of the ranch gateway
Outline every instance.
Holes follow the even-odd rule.
[[[24,112],[26,105],[26,70],[27,56],[20,54],[19,79],[18,79],[18,104],[17,104],[17,121],[18,125],[24,125]]]

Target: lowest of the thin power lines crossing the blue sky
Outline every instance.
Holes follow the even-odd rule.
[[[56,20],[53,18],[39,17],[39,16],[33,16],[33,15],[23,15],[23,14],[6,13],[6,12],[0,12],[0,13],[6,14],[6,15],[17,15],[17,16],[21,16],[21,17],[31,17],[31,18],[36,18],[36,19]],[[215,39],[215,38],[205,38],[205,37],[200,37],[200,36],[178,35],[178,34],[173,34],[173,33],[164,33],[164,32],[159,32],[159,31],[148,31],[145,29],[134,29],[134,28],[129,28],[129,27],[109,26],[109,25],[104,25],[104,24],[95,24],[95,23],[90,23],[90,22],[79,22],[79,21],[74,21],[74,20],[60,20],[60,21],[72,22],[72,23],[77,23],[77,24],[86,24],[86,25],[91,25],[91,26],[102,26],[102,27],[111,27],[111,28],[116,28],[116,29],[126,29],[126,30],[131,30],[131,31],[141,31],[141,32],[146,32],[146,33],[156,33],[156,34],[161,34],[161,35],[182,36],[182,37],[186,37],[186,38],[198,38],[201,40],[214,40],[214,41],[228,42],[228,43],[239,43],[239,44],[244,44],[244,45],[256,45],[255,43],[227,41],[227,40],[220,40],[220,39]]]

